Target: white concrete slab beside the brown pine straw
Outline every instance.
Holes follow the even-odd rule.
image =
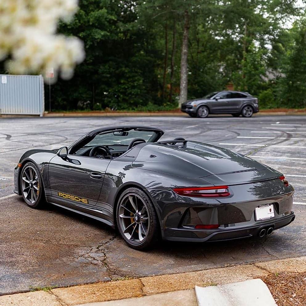
[[[195,287],[198,306],[277,306],[267,285],[261,279]]]

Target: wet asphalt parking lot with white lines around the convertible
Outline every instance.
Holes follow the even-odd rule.
[[[31,148],[69,145],[100,126],[161,128],[249,155],[284,173],[296,189],[296,220],[268,238],[127,247],[112,228],[54,206],[33,210],[13,190],[13,169]],[[0,295],[133,276],[195,271],[306,255],[306,116],[0,119]]]

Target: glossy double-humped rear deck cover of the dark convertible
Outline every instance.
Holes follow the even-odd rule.
[[[214,185],[221,182],[254,182],[279,175],[278,172],[251,158],[196,141],[188,141],[181,147],[145,145],[133,166],[178,177],[205,177],[206,181]]]

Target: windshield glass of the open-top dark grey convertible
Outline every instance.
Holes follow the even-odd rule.
[[[120,134],[120,132],[107,133],[107,134],[98,134],[94,139],[86,144],[86,147],[95,146],[95,145],[129,145],[132,139],[142,138],[146,142],[150,141],[152,136],[155,136],[154,131],[136,131],[130,130],[128,132]]]

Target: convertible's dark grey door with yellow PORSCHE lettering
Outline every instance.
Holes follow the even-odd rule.
[[[69,155],[55,156],[48,167],[52,199],[66,206],[96,205],[109,159]]]

